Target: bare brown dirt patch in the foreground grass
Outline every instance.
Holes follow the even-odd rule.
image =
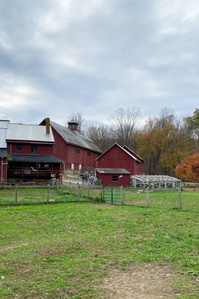
[[[175,298],[180,295],[172,287],[172,281],[177,275],[180,275],[178,269],[154,264],[128,266],[127,270],[113,269],[111,275],[107,275],[104,279],[104,294],[100,297],[102,299]]]

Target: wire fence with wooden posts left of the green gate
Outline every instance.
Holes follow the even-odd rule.
[[[0,205],[36,204],[43,202],[93,201],[101,196],[102,188],[76,186],[4,186],[0,189]]]

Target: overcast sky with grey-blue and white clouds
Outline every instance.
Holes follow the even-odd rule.
[[[199,0],[0,0],[0,118],[193,112]],[[198,105],[199,108],[199,105]]]

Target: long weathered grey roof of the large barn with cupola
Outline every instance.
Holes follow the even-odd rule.
[[[67,143],[75,144],[80,147],[90,149],[94,152],[102,153],[101,149],[99,149],[91,139],[79,134],[77,131],[72,131],[64,126],[59,125],[58,123],[54,123],[51,120],[50,125]]]

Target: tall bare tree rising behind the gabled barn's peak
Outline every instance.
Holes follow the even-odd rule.
[[[108,120],[115,130],[118,143],[129,146],[141,121],[141,111],[136,107],[126,110],[119,108],[109,116]]]

